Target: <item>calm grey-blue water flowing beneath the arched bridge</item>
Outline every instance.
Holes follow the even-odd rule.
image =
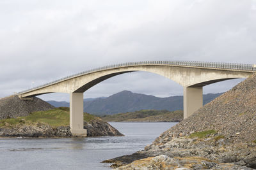
[[[142,150],[176,123],[110,124],[125,136],[0,138],[0,169],[111,169],[100,162]]]

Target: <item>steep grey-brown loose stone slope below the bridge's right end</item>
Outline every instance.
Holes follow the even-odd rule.
[[[166,143],[171,136],[206,130],[215,130],[236,143],[255,141],[256,74],[161,134],[154,143]]]

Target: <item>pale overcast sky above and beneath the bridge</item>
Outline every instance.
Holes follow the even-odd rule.
[[[256,1],[1,0],[0,97],[95,67],[145,60],[256,63]],[[242,79],[243,80],[243,79]],[[225,92],[242,80],[204,87]],[[115,76],[84,92],[182,95],[152,73]],[[68,94],[44,100],[68,101]]]

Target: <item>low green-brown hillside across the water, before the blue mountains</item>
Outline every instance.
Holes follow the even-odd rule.
[[[101,117],[106,122],[180,122],[183,111],[140,110]]]

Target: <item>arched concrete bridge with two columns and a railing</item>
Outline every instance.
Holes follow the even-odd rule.
[[[86,136],[87,131],[83,129],[83,92],[108,78],[134,71],[156,73],[182,85],[184,118],[187,118],[203,106],[205,85],[234,78],[247,78],[256,72],[256,65],[190,61],[127,62],[73,74],[19,92],[19,97],[28,100],[34,96],[55,92],[70,94],[70,131],[74,136]]]

